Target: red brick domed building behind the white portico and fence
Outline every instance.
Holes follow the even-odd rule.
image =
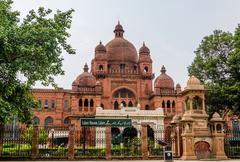
[[[72,89],[33,89],[39,101],[35,123],[79,125],[81,117],[94,117],[97,106],[112,110],[140,106],[141,110],[162,108],[167,126],[176,113],[182,112],[180,85],[174,85],[164,66],[154,80],[149,48],[143,43],[137,52],[124,38],[120,23],[114,34],[106,45],[97,45],[91,68],[84,66]]]

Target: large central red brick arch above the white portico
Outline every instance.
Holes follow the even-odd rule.
[[[112,99],[114,109],[117,109],[116,107],[121,104],[123,107],[133,107],[136,102],[134,93],[127,88],[121,88],[113,92]]]

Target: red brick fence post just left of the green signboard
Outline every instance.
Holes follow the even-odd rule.
[[[74,145],[75,145],[75,129],[74,125],[69,126],[69,135],[68,135],[68,160],[74,159]]]

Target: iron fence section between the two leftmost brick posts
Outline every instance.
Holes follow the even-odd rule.
[[[67,158],[69,128],[40,127],[38,141],[39,158]]]

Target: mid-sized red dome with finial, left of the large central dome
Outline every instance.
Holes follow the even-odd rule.
[[[88,72],[87,64],[84,65],[84,72],[80,74],[72,83],[72,86],[77,87],[94,87],[96,83],[95,77]]]

